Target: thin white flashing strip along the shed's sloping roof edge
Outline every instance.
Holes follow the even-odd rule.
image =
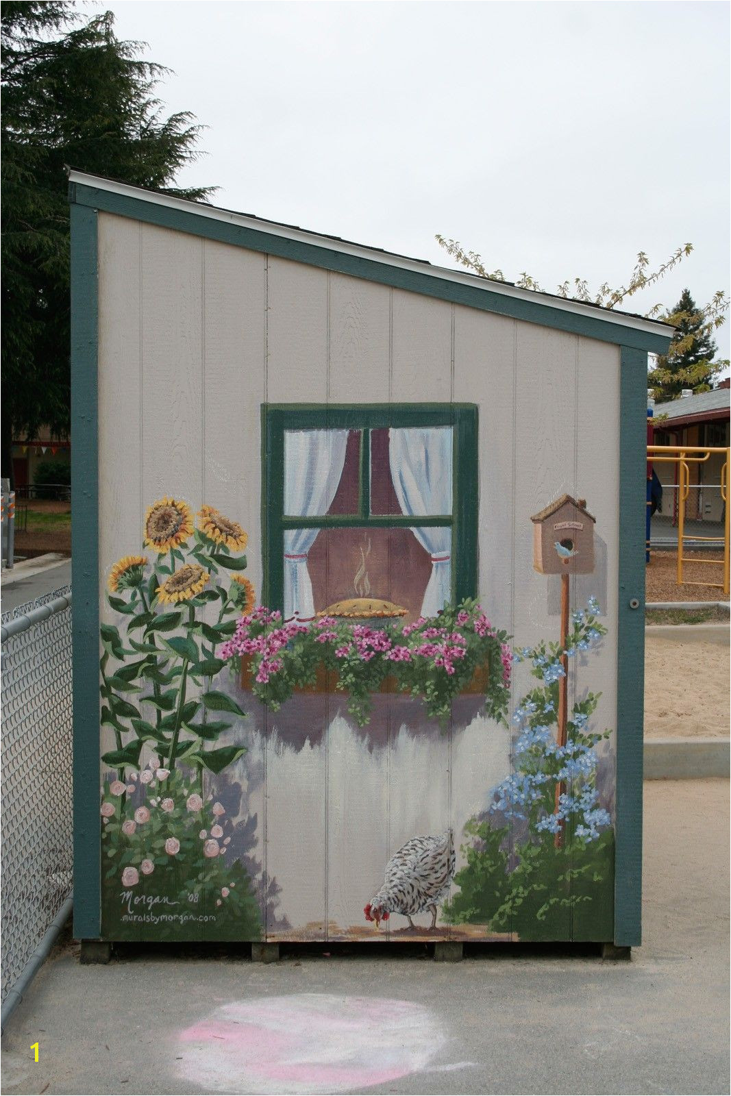
[[[83,186],[93,186],[96,190],[108,191],[112,194],[124,195],[136,198],[140,202],[148,202],[152,205],[167,206],[171,209],[194,214],[209,220],[226,221],[231,225],[239,225],[259,232],[269,232],[271,236],[283,237],[287,240],[297,240],[308,243],[310,247],[322,248],[327,251],[339,251],[343,254],[354,255],[358,259],[370,260],[382,263],[386,266],[396,266],[401,270],[413,271],[429,277],[439,278],[446,282],[456,282],[461,285],[469,285],[472,288],[483,289],[487,293],[494,293],[499,296],[513,297],[518,300],[532,301],[536,305],[544,305],[547,308],[555,308],[563,312],[573,312],[578,316],[587,316],[595,319],[601,318],[606,323],[615,323],[621,328],[632,328],[636,331],[646,331],[649,334],[667,335],[674,329],[667,323],[658,320],[648,320],[643,317],[631,316],[626,312],[603,308],[601,305],[587,305],[580,300],[558,297],[552,294],[539,293],[535,289],[521,289],[506,282],[496,282],[480,277],[477,274],[466,274],[462,271],[450,270],[447,266],[434,266],[426,261],[409,259],[406,255],[398,255],[389,251],[381,251],[377,248],[368,248],[359,243],[351,243],[319,232],[310,232],[301,228],[282,225],[278,221],[266,220],[262,217],[252,217],[248,214],[233,213],[230,209],[222,209],[218,206],[207,205],[203,202],[192,202],[187,198],[178,198],[170,194],[160,194],[158,191],[149,191],[142,186],[133,186],[129,183],[121,183],[103,175],[91,175],[84,171],[69,170],[69,182],[79,183]],[[598,315],[597,315],[598,313]]]

